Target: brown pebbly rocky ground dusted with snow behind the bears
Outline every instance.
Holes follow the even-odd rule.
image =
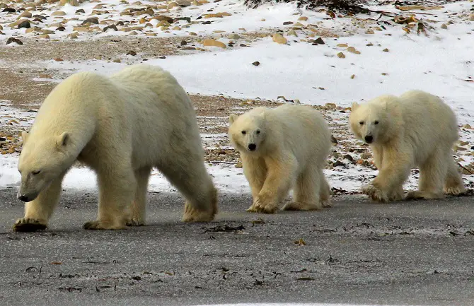
[[[318,45],[329,37],[374,33],[381,27],[398,27],[406,33],[417,31],[429,35],[434,21],[420,21],[410,11],[424,12],[441,6],[427,4],[410,6],[400,2],[397,12],[377,11],[369,18],[352,16],[352,13],[333,12],[327,8],[319,11],[327,19],[339,18],[342,28],[325,26],[324,23],[306,23],[307,17],[299,14],[294,21],[281,20],[281,26],[258,29],[241,29],[236,34],[225,30],[212,33],[200,31],[202,26],[212,26],[236,11],[237,3],[203,11],[200,7],[207,0],[178,0],[158,2],[128,2],[125,0],[105,3],[93,1],[6,1],[0,2],[0,153],[18,155],[21,140],[18,133],[28,129],[35,111],[57,81],[68,76],[67,71],[46,69],[37,61],[93,61],[146,63],[149,59],[173,54],[207,52],[212,48],[252,47],[262,37],[272,36],[275,43],[310,43]],[[76,8],[75,6],[81,6]],[[82,9],[82,8],[85,9]],[[227,9],[228,11],[225,11]],[[449,22],[472,20],[469,12],[452,14]],[[388,22],[389,20],[390,22]],[[262,18],[262,22],[265,20]],[[383,21],[383,22],[381,22]],[[449,22],[446,22],[449,24]],[[219,23],[217,23],[219,24]],[[440,25],[436,25],[440,26]],[[445,25],[447,26],[447,25]],[[442,27],[442,25],[441,25]],[[196,29],[196,30],[195,30]],[[193,32],[195,30],[196,32]],[[2,33],[4,35],[2,35]],[[183,34],[184,33],[184,34]],[[117,36],[118,35],[118,36]],[[179,35],[179,36],[173,36]],[[160,37],[156,37],[160,36]],[[294,37],[294,38],[293,38]],[[337,57],[347,52],[357,54],[354,47],[337,45]],[[387,50],[388,51],[388,50]],[[257,66],[259,63],[253,63]],[[324,90],[324,88],[318,88]],[[209,163],[241,167],[238,154],[230,147],[226,136],[227,118],[231,112],[244,112],[259,105],[276,106],[282,102],[299,103],[298,100],[238,100],[224,96],[191,95],[197,107],[197,116],[206,146]],[[369,180],[375,167],[369,148],[349,133],[347,117],[349,107],[335,103],[316,106],[328,120],[333,131],[333,153],[328,160],[328,170],[344,175],[348,169],[357,170],[354,180]],[[466,175],[466,183],[473,184],[473,155],[470,143],[473,129],[461,122],[461,141],[456,144],[456,158]],[[361,170],[364,170],[361,172]],[[414,170],[412,180],[417,177]],[[341,191],[343,192],[343,191]]]

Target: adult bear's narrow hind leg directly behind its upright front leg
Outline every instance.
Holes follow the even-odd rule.
[[[145,225],[146,219],[146,194],[148,192],[148,180],[151,168],[144,167],[135,170],[135,179],[137,188],[135,189],[135,198],[130,206],[130,217],[127,220],[128,226]]]

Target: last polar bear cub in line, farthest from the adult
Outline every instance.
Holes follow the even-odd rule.
[[[400,97],[381,95],[362,105],[354,102],[349,124],[374,153],[378,175],[362,188],[374,201],[403,199],[403,183],[413,167],[420,167],[420,182],[405,199],[437,199],[443,191],[465,191],[453,160],[456,116],[437,96],[410,90]]]

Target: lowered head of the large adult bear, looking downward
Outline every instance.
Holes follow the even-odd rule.
[[[37,137],[23,131],[21,138],[23,148],[18,160],[21,174],[18,199],[29,202],[62,175],[74,163],[74,158],[68,151],[71,139],[67,132]]]

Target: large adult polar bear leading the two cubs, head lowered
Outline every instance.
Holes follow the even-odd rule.
[[[183,221],[209,221],[216,214],[192,102],[160,67],[128,66],[110,78],[69,76],[47,96],[22,138],[18,198],[27,203],[14,230],[47,227],[76,160],[98,175],[98,219],[86,229],[143,225],[152,167],[185,196]]]

